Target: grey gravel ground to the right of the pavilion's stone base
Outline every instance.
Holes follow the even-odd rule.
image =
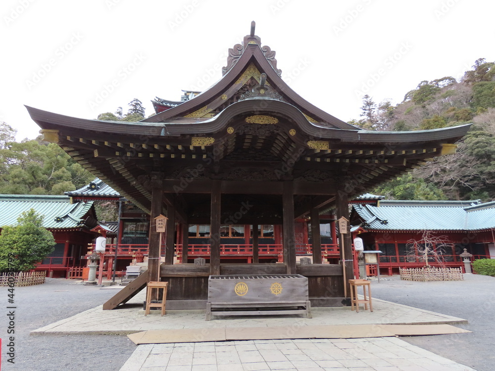
[[[464,318],[472,333],[404,336],[402,340],[477,371],[495,370],[495,278],[464,275],[463,281],[412,282],[398,276],[371,284],[372,297]]]

